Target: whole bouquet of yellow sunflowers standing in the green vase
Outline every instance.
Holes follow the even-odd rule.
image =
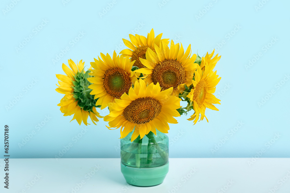
[[[218,109],[213,104],[220,104],[213,93],[220,81],[213,71],[220,56],[214,51],[200,57],[191,55],[191,45],[184,50],[183,45],[169,39],[155,37],[153,29],[147,37],[129,34],[130,41],[123,39],[128,49],[119,55],[100,53],[84,71],[82,60],[76,65],[68,60],[62,68],[66,75],[57,74],[59,85],[57,92],[65,94],[58,106],[64,116],[74,115],[79,124],[87,125],[88,116],[94,124],[98,118],[108,122],[107,128],[120,128],[121,139],[130,133],[129,149],[140,150],[144,136],[149,145],[155,141],[156,132],[168,133],[169,125],[176,124],[174,117],[179,117],[193,110],[188,118],[194,124],[204,117],[208,121],[206,108]],[[187,106],[180,106],[180,102]],[[109,109],[102,117],[97,112]],[[98,118],[97,118],[98,117]],[[155,148],[160,148],[157,144]],[[168,157],[168,152],[159,151],[161,157]],[[126,152],[124,159],[130,157]],[[135,166],[140,166],[136,157]],[[150,160],[150,157],[147,161]]]

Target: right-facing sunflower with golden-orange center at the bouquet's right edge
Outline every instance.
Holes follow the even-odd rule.
[[[217,99],[213,93],[215,92],[215,86],[220,82],[220,78],[213,72],[213,65],[206,63],[204,72],[200,66],[195,71],[195,80],[192,80],[193,89],[187,95],[189,100],[193,102],[193,110],[195,113],[191,115],[189,121],[194,120],[194,124],[197,123],[199,115],[201,114],[200,120],[203,120],[205,116],[205,109],[209,108],[218,111],[213,104],[220,104],[220,100]],[[209,120],[206,118],[207,122]]]

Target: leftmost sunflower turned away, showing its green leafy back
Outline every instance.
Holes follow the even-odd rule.
[[[62,64],[62,69],[66,75],[56,74],[59,79],[57,85],[59,88],[55,89],[61,94],[65,94],[57,106],[60,106],[60,111],[64,113],[64,116],[73,115],[72,120],[77,120],[79,125],[83,121],[87,125],[88,116],[94,124],[99,120],[97,117],[102,118],[96,110],[95,100],[89,94],[90,89],[88,85],[90,82],[86,80],[89,77],[90,71],[84,71],[84,63],[82,60],[76,65],[73,60],[68,60],[67,67]],[[72,121],[71,120],[71,121]]]

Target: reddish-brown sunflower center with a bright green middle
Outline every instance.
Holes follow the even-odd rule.
[[[110,68],[105,71],[103,86],[107,94],[114,98],[120,98],[128,93],[131,87],[130,76],[119,68]]]

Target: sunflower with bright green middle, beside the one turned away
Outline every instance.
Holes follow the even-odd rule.
[[[101,53],[101,60],[95,59],[91,62],[94,69],[90,69],[91,78],[88,78],[91,84],[88,88],[92,89],[91,95],[95,95],[95,99],[99,98],[96,106],[101,105],[101,109],[108,106],[109,102],[113,102],[115,98],[119,99],[122,94],[128,93],[132,83],[137,80],[135,73],[131,71],[133,62],[129,57],[117,56],[113,53],[113,58],[109,54]]]

